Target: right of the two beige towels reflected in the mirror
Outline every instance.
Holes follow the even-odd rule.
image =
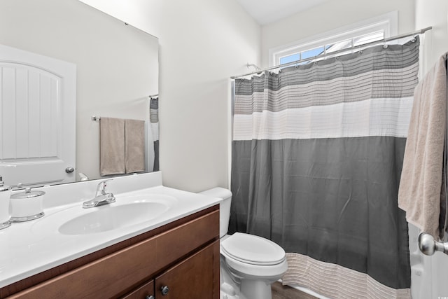
[[[125,165],[126,173],[145,171],[145,122],[125,121]]]

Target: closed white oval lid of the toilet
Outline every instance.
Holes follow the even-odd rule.
[[[221,242],[221,249],[235,260],[254,265],[276,265],[285,259],[285,251],[279,245],[241,232],[235,232]]]

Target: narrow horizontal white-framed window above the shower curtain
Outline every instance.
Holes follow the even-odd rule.
[[[319,36],[297,41],[269,50],[269,66],[328,55],[332,52],[361,48],[366,43],[379,41],[397,34],[398,13],[392,12]],[[342,53],[344,54],[344,52]],[[341,55],[339,53],[338,55]],[[303,62],[307,63],[307,62]]]

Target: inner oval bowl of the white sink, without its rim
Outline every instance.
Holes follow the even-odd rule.
[[[134,202],[118,206],[102,206],[59,226],[64,235],[84,235],[105,232],[149,221],[167,211],[167,204],[160,202]]]

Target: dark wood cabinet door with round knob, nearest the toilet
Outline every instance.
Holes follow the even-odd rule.
[[[219,240],[155,279],[156,299],[219,298]]]

